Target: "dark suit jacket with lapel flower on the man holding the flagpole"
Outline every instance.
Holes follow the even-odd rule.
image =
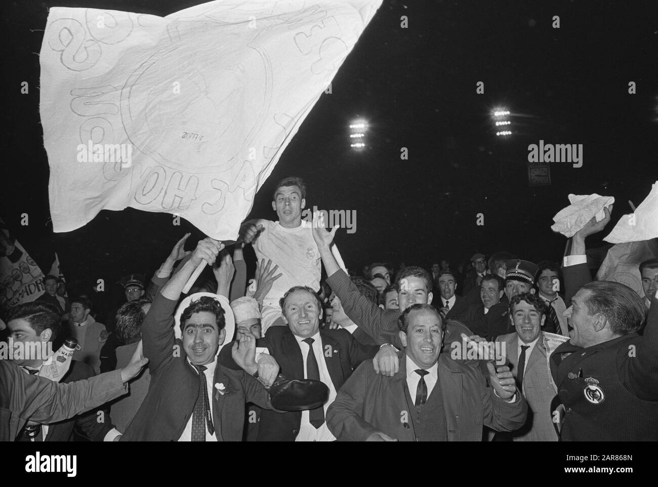
[[[151,384],[122,441],[178,441],[192,415],[199,393],[199,375],[188,362],[182,342],[174,338],[175,308],[176,301],[158,294],[141,326]],[[209,397],[217,440],[239,442],[245,403],[251,401],[271,408],[269,394],[251,375],[227,369],[219,361],[213,384],[224,384],[227,391],[219,394],[213,387]]]

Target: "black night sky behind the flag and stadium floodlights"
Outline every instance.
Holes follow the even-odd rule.
[[[39,58],[47,9],[107,8],[164,16],[198,0],[3,1],[3,165],[0,217],[45,272],[57,251],[72,292],[98,278],[107,291],[128,272],[153,272],[190,230],[166,213],[102,211],[53,234],[49,167],[39,124]],[[307,207],[357,211],[337,237],[349,269],[372,261],[428,267],[475,251],[559,259],[550,230],[569,193],[617,199],[613,224],[658,179],[658,15],[655,0],[384,0],[255,198],[251,217],[276,219],[276,180],[307,181]],[[400,16],[409,18],[401,28]],[[559,15],[560,28],[551,27]],[[20,93],[27,81],[29,94]],[[485,85],[476,94],[476,82]],[[628,82],[637,94],[628,94]],[[512,112],[498,140],[490,113]],[[347,125],[369,124],[368,147],[349,149]],[[551,164],[551,186],[528,186],[528,144],[582,143],[584,163]],[[409,160],[401,161],[407,147]],[[29,225],[20,225],[28,213]],[[476,214],[484,214],[484,226]],[[180,230],[179,230],[180,229]],[[594,240],[594,239],[592,239]],[[590,242],[597,244],[599,242]],[[113,288],[113,289],[109,289]]]

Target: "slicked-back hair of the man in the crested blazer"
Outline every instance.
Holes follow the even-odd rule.
[[[593,281],[580,289],[592,293],[583,300],[590,316],[603,314],[614,333],[627,335],[642,327],[646,308],[638,293],[628,286],[613,281]]]

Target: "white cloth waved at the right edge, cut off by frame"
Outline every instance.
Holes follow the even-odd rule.
[[[619,219],[606,242],[640,242],[658,237],[658,181],[653,183],[649,195],[635,209],[635,213]]]

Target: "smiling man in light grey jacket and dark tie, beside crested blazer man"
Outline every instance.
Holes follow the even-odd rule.
[[[526,424],[507,438],[514,441],[557,442],[551,417],[551,401],[557,392],[548,372],[549,338],[542,331],[546,315],[541,297],[517,294],[509,303],[509,317],[517,331],[495,339],[505,344],[505,358],[512,365],[517,387],[528,401]]]

